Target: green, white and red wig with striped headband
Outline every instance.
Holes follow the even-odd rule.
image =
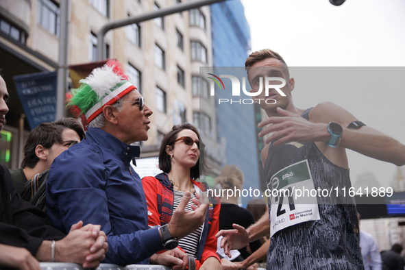
[[[66,94],[66,108],[75,117],[82,116],[86,126],[103,111],[104,106],[112,105],[136,89],[127,80],[121,63],[110,60],[101,68],[94,69],[86,79],[81,79],[79,88]]]

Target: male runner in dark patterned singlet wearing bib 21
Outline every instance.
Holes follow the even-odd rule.
[[[245,68],[251,92],[262,90],[258,98],[268,101],[260,106],[269,118],[258,125],[264,127],[259,136],[273,132],[262,150],[267,187],[271,191],[338,187],[339,193],[297,201],[289,197],[284,204],[282,195],[269,197],[269,216],[247,230],[235,224],[235,230],[217,234],[224,236],[221,247],[225,254],[270,230],[267,269],[363,269],[354,197],[340,193],[341,188],[351,187],[345,149],[402,166],[405,145],[367,127],[334,103],[319,103],[306,110],[295,107],[291,96],[294,79],[283,58],[270,49],[251,53]],[[285,85],[265,95],[260,88],[265,85],[264,77],[273,77],[271,84],[284,80]]]

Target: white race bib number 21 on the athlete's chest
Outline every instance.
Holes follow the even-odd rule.
[[[312,197],[310,192],[302,194],[315,190],[308,160],[275,173],[267,188],[271,191],[270,236],[289,226],[320,219],[317,196]]]

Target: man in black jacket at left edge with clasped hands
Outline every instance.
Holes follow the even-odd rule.
[[[0,76],[0,130],[5,125],[8,99]],[[82,225],[82,221],[74,224],[65,237],[51,226],[44,212],[21,199],[10,171],[0,166],[0,267],[40,269],[38,260],[97,267],[108,251],[106,234],[99,225]]]

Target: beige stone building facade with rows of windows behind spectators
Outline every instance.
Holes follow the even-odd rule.
[[[184,1],[70,1],[69,66],[77,68],[97,60],[97,33],[106,23]],[[10,93],[0,162],[14,169],[23,158],[29,125],[12,77],[58,68],[60,1],[1,1],[0,26],[0,67]],[[217,138],[215,119],[207,121],[200,113],[213,113],[214,103],[199,96],[199,86],[205,85],[198,76],[199,66],[212,66],[213,59],[210,7],[114,29],[105,40],[107,58],[123,64],[130,81],[154,111],[149,140],[140,143],[141,158],[158,156],[160,141],[176,124],[195,123],[201,133]],[[71,85],[73,81],[71,77]],[[209,162],[216,164],[212,158]]]

